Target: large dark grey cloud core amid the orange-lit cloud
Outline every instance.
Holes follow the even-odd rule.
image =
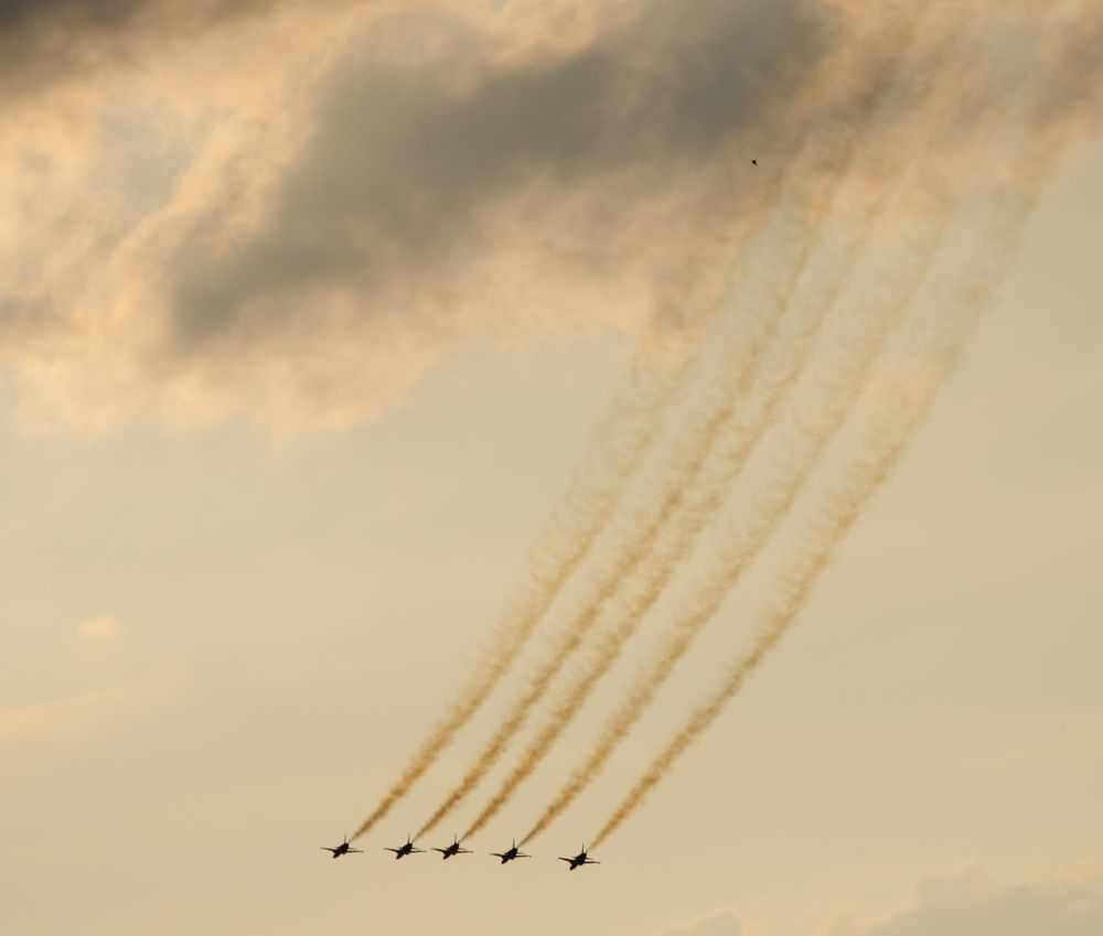
[[[618,222],[784,119],[831,26],[805,0],[661,0],[568,54],[480,65],[495,50],[465,22],[376,20],[324,78],[263,226],[227,248],[221,205],[169,259],[180,348],[302,325],[333,290],[366,315],[447,294],[456,251],[470,260],[501,234],[495,213],[534,192],[549,215],[587,193],[575,252],[611,260]]]

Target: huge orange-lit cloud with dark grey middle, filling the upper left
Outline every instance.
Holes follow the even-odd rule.
[[[0,10],[0,377],[32,429],[345,426],[473,342],[678,327],[770,166],[893,60],[849,0]],[[993,17],[978,115],[1046,67]]]

